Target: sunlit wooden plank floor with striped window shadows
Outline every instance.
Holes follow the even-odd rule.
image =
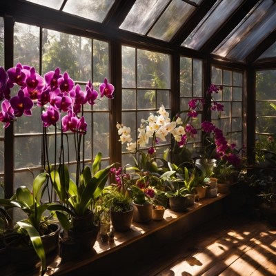
[[[276,275],[276,227],[264,220],[221,215],[164,247],[162,252],[150,253],[139,264],[143,264],[142,268],[132,267],[123,274]]]

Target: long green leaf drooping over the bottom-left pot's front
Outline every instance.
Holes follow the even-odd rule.
[[[41,259],[42,263],[42,270],[46,270],[46,255],[43,248],[43,244],[41,241],[41,237],[37,230],[34,228],[34,226],[30,224],[26,224],[25,222],[17,222],[17,224],[25,229],[28,232],[28,235],[30,236],[30,240],[32,242],[32,246],[34,246],[34,250],[37,252],[37,255],[39,256],[39,259]]]

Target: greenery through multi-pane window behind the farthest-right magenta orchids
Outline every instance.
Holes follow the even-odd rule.
[[[237,148],[243,145],[242,79],[242,72],[212,66],[212,83],[223,86],[223,92],[213,97],[224,105],[223,111],[212,110],[212,123],[224,132],[228,144],[235,144]]]

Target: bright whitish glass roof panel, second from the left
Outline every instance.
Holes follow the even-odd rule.
[[[63,12],[102,23],[115,0],[68,0]]]

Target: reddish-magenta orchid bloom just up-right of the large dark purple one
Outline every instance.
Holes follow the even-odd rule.
[[[37,95],[45,87],[44,80],[42,77],[35,72],[34,67],[30,68],[30,77],[26,79],[26,89],[30,94],[30,99],[36,100]]]

